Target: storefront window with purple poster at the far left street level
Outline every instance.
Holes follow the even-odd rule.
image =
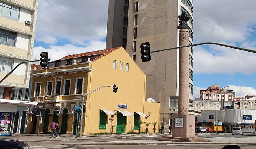
[[[0,135],[11,135],[12,113],[0,113]]]

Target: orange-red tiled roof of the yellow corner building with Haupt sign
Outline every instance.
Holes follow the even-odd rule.
[[[86,53],[72,54],[72,55],[63,57],[60,60],[67,60],[67,59],[71,59],[71,58],[78,58],[78,57],[84,57],[84,56],[100,55],[92,60],[92,61],[96,61],[96,60],[108,55],[109,53],[112,53],[113,51],[115,51],[119,48],[120,47],[114,47],[111,49],[104,49],[104,50],[91,51],[91,52],[86,52]]]

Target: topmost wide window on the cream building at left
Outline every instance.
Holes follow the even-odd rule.
[[[11,4],[5,4],[0,2],[0,13],[1,16],[9,19],[18,21],[19,19],[19,7],[16,7]]]

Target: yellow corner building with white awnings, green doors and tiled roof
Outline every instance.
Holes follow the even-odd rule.
[[[61,133],[76,134],[75,107],[82,106],[84,94],[98,88],[84,97],[82,134],[110,133],[111,125],[115,126],[113,133],[121,133],[121,124],[125,124],[123,133],[138,132],[139,120],[157,122],[159,128],[159,103],[146,101],[146,75],[123,47],[73,54],[48,65],[31,75],[31,101],[45,107],[40,133],[50,132],[50,122],[58,121]],[[27,133],[38,131],[35,108],[30,106]],[[149,133],[153,127],[148,126]],[[142,124],[141,131],[145,129]]]

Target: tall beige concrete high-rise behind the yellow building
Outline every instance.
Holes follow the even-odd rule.
[[[115,5],[121,2],[123,8]],[[114,37],[124,34],[125,3],[127,0],[109,0],[106,48],[118,42]],[[126,51],[147,75],[146,99],[153,98],[155,102],[160,102],[160,120],[169,123],[171,115],[178,113],[179,49],[152,53],[150,62],[142,62],[140,44],[149,42],[151,51],[178,47],[178,15],[182,11],[189,14],[189,44],[193,44],[193,0],[129,0],[128,6]],[[192,100],[193,47],[189,47],[188,77],[189,99]]]

